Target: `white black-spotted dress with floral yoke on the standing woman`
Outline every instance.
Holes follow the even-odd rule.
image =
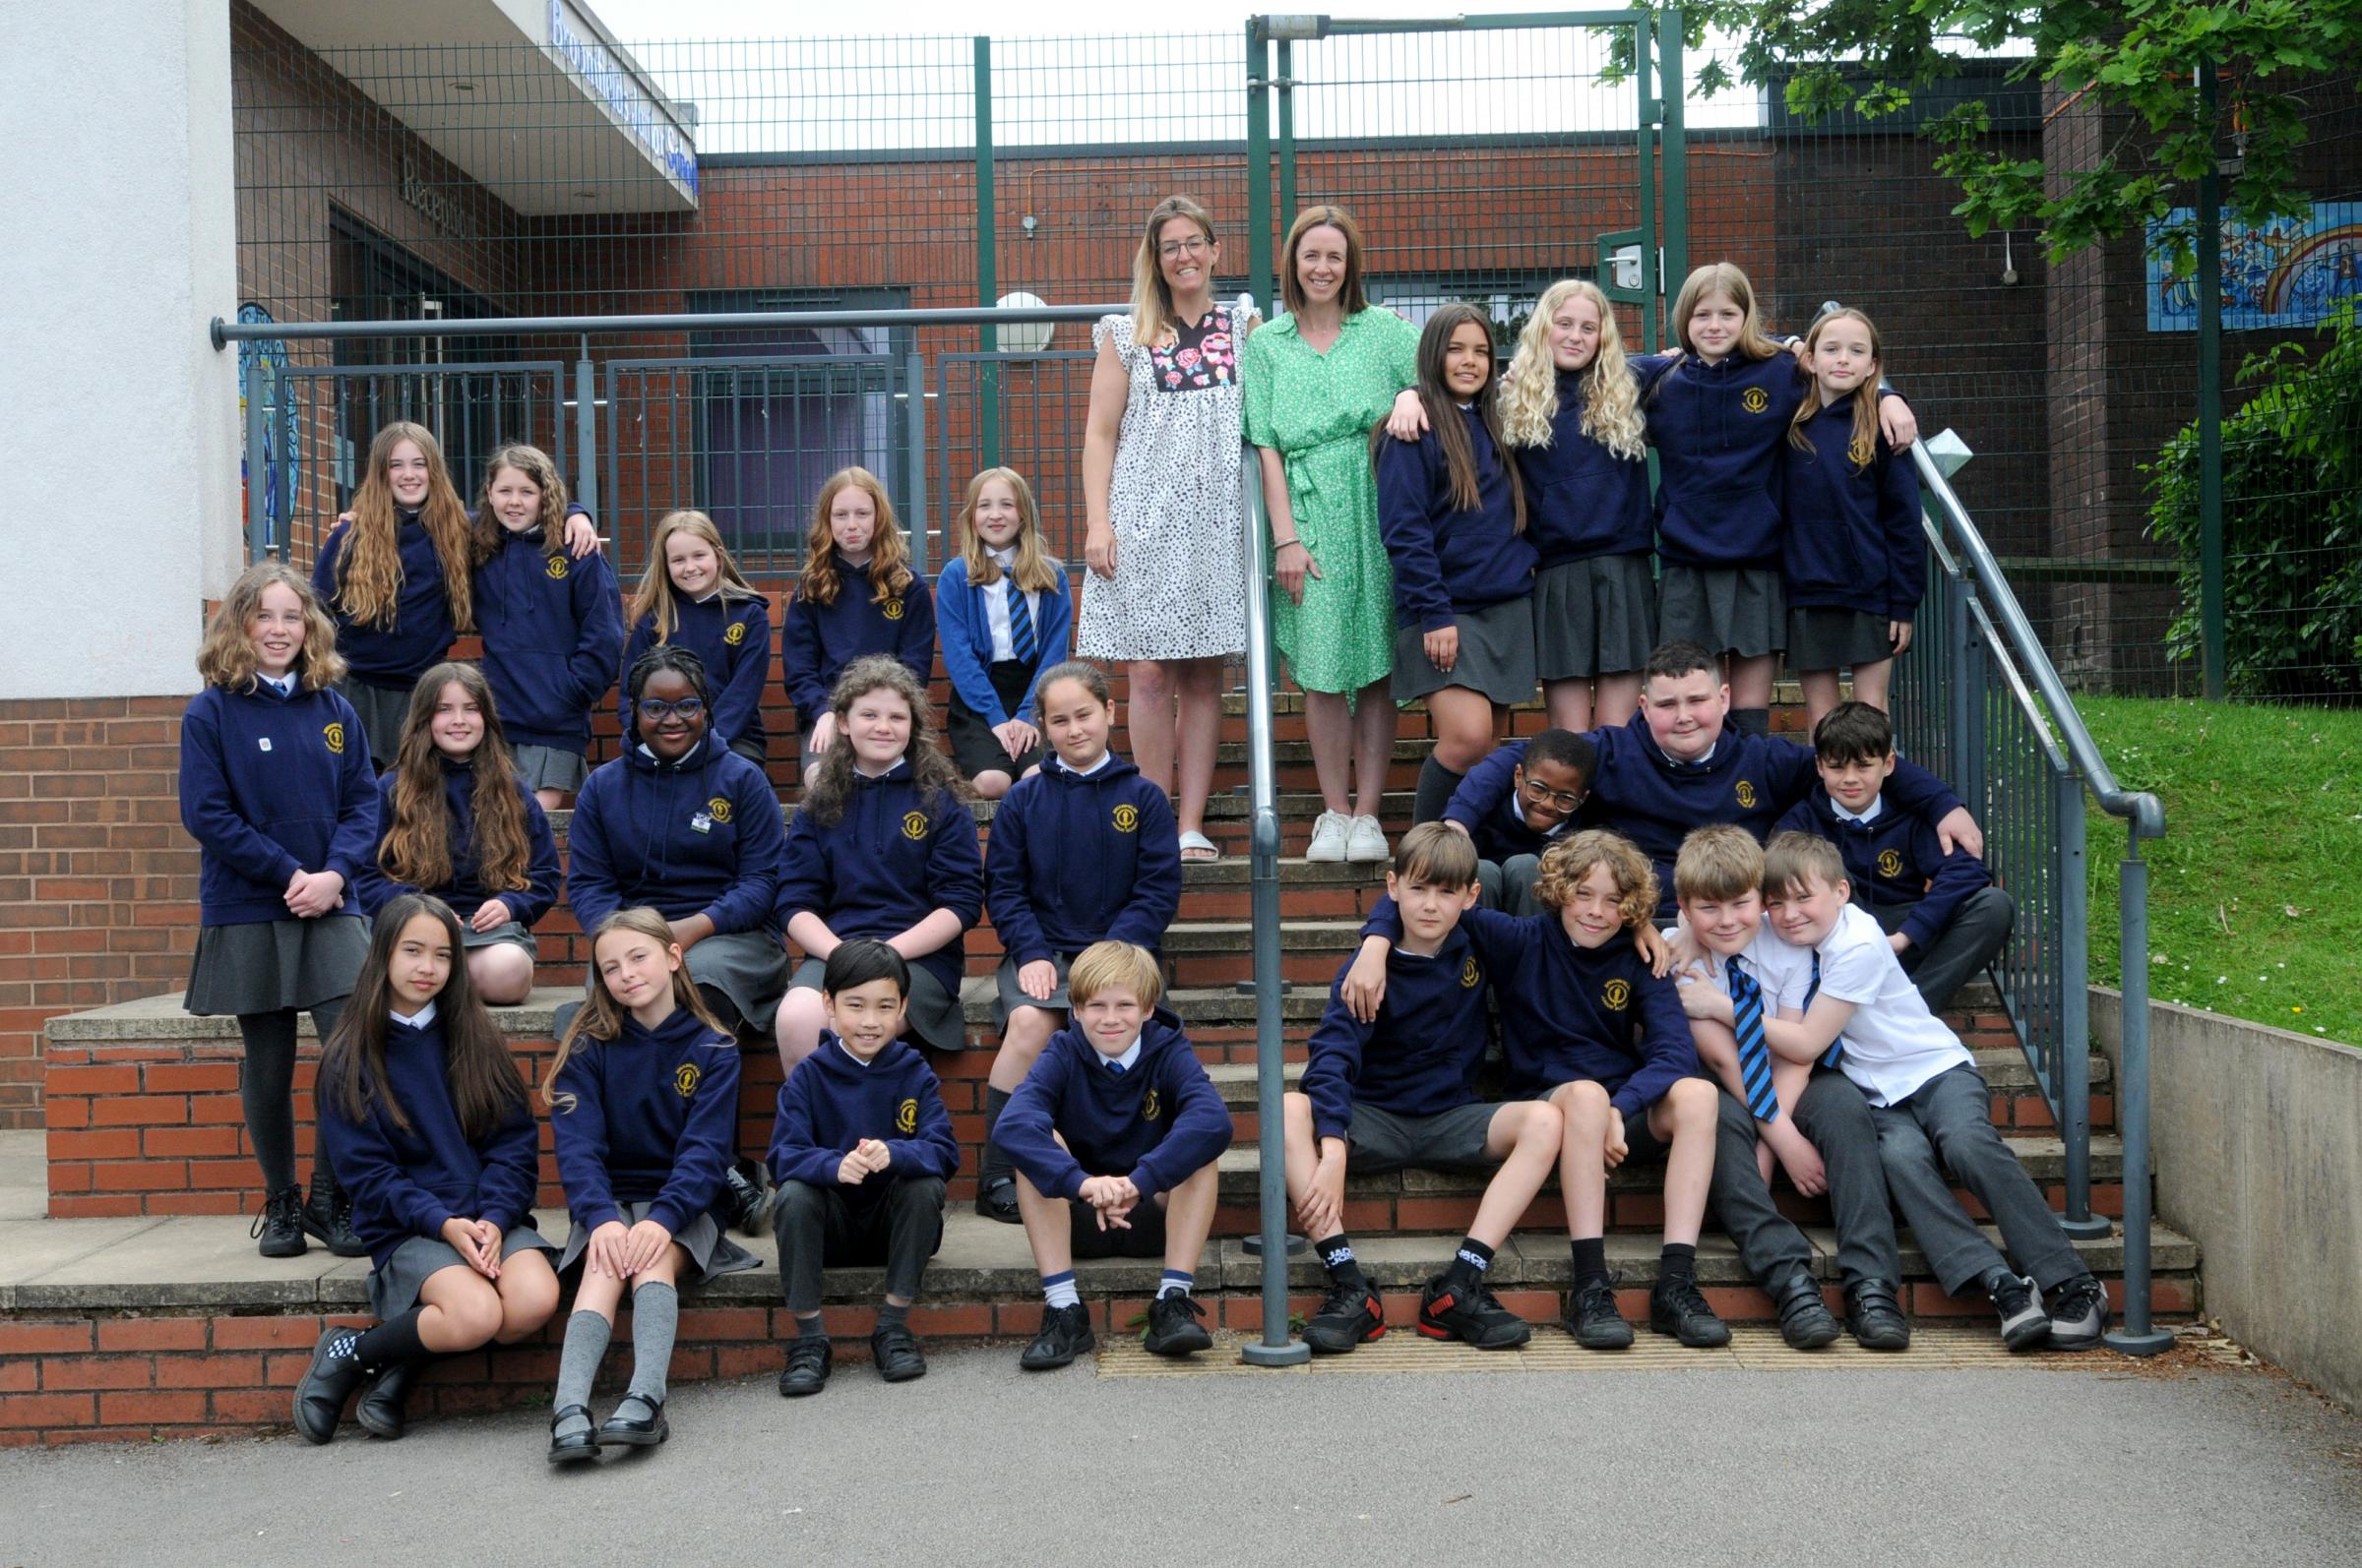
[[[1077,574],[1082,659],[1212,659],[1247,647],[1233,324],[1249,314],[1240,295],[1155,349],[1131,342],[1131,316],[1091,328],[1091,347],[1113,342],[1131,380],[1108,482],[1115,579]]]

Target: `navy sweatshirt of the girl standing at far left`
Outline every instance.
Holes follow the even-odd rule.
[[[333,690],[281,697],[205,687],[180,720],[180,822],[203,852],[196,897],[205,926],[295,919],[298,871],[354,883],[378,852],[378,777],[352,704]]]

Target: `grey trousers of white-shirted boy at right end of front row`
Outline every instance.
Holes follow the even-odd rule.
[[[2086,1273],[2041,1188],[1994,1131],[1989,1100],[1984,1074],[1963,1063],[1920,1084],[1901,1105],[1871,1108],[1894,1207],[1927,1254],[1937,1285],[1953,1296],[2001,1268],[2003,1259],[1953,1202],[1944,1171],[1975,1193],[2001,1226],[2020,1273],[2034,1275],[2043,1289]]]

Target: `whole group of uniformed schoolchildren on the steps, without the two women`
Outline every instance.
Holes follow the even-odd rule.
[[[1894,522],[1906,505],[1916,522],[1916,501],[1880,435],[1875,333],[1826,316],[1793,371],[1731,279],[1691,279],[1684,349],[1656,366],[1625,364],[1597,290],[1554,286],[1500,397],[1486,397],[1490,340],[1481,357],[1460,342],[1483,324],[1443,312],[1420,357],[1431,430],[1372,435],[1403,626],[1446,675],[1453,640],[1436,633],[1500,602],[1486,595],[1519,569],[1568,626],[1538,661],[1526,649],[1561,727],[1486,756],[1521,694],[1429,692],[1441,739],[1420,827],[1287,1098],[1287,1190],[1332,1282],[1306,1325],[1316,1351],[1384,1329],[1344,1233],[1344,1178],[1403,1164],[1498,1167],[1417,1320],[1476,1346],[1528,1334],[1486,1273],[1552,1174],[1573,1247],[1566,1322],[1585,1346],[1630,1344],[1606,1185],[1658,1157],[1649,1320],[1684,1344],[1727,1339],[1696,1289],[1708,1209],[1790,1344],[1835,1339],[1809,1244],[1769,1197],[1774,1164],[1831,1193],[1845,1320],[1866,1346],[1908,1341],[1887,1193],[1944,1289],[1991,1294],[2012,1348],[2095,1344],[2107,1320],[1934,1018],[1991,961],[2010,907],[1975,824],[1894,758],[1880,711],[1918,545]],[[1646,579],[1644,439],[1668,475],[1663,605],[1637,597],[1623,560],[1642,555]],[[1753,517],[1762,496],[1816,486],[1812,527]],[[1734,529],[1746,560],[1694,560]],[[1042,1273],[1020,1365],[1091,1348],[1077,1256],[1160,1259],[1146,1346],[1212,1344],[1190,1292],[1231,1117],[1160,1006],[1181,897],[1172,805],[1110,751],[1105,678],[1065,659],[1070,586],[1023,477],[978,475],[959,538],[928,593],[883,486],[864,470],[824,486],[782,628],[805,779],[791,829],[763,772],[768,605],[702,512],[657,527],[619,614],[543,453],[498,451],[470,517],[432,435],[399,423],[312,581],[262,562],[231,588],[182,744],[182,815],[203,848],[189,1008],[239,1018],[262,1252],[300,1254],[309,1233],[371,1256],[380,1320],[324,1332],[295,1396],[307,1438],[328,1440],[357,1391],[364,1429],[399,1436],[428,1358],[536,1332],[579,1270],[550,1462],[661,1443],[678,1289],[753,1266],[727,1228],[765,1211],[796,1322],[779,1391],[829,1379],[822,1268],[841,1263],[886,1268],[879,1372],[924,1374],[909,1308],[959,1148],[919,1046],[961,1041],[961,937],[985,907],[1004,959],[978,1209],[1023,1223]],[[1821,659],[1805,668],[1814,749],[1753,723],[1772,652],[1755,645],[1779,631],[1783,588],[1790,654]],[[1703,642],[1651,656],[1658,626]],[[952,758],[926,701],[938,628]],[[479,666],[446,659],[463,631],[482,635]],[[1738,711],[1724,656],[1734,687],[1762,692]],[[590,770],[590,711],[619,664],[624,753]],[[1880,701],[1838,704],[1838,666]],[[569,796],[565,893],[593,973],[539,1086],[572,1214],[557,1249],[531,1226],[536,1124],[487,1004],[531,987],[531,926],[560,897],[546,810]],[[971,796],[1001,801],[990,857]],[[324,1039],[309,1197],[291,1110],[300,1011]],[[763,1025],[789,1077],[756,1164],[737,1148],[737,1034]],[[1495,1032],[1498,1100],[1481,1093]],[[1944,1169],[2024,1275],[1960,1214]],[[631,1384],[593,1424],[626,1292]]]

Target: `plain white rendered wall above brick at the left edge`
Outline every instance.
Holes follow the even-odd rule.
[[[243,564],[229,0],[12,0],[0,699],[196,690]]]

